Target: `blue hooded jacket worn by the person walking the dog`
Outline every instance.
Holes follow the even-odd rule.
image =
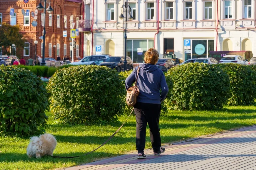
[[[140,94],[137,97],[137,102],[161,104],[166,98],[169,90],[163,71],[154,64],[140,64],[139,67],[140,72],[137,86],[139,87]],[[138,67],[136,67],[131,75],[125,80],[126,90],[128,90],[128,88],[135,82],[137,69]],[[160,89],[162,89],[161,95]]]

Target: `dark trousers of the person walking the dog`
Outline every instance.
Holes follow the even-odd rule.
[[[159,129],[159,118],[161,104],[139,103],[134,106],[136,116],[136,149],[141,153],[145,149],[146,128],[149,125],[150,139],[154,152],[158,152],[161,147],[161,137]]]

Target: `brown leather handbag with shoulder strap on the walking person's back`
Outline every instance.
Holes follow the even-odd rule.
[[[139,71],[140,71],[140,67],[138,67],[137,70],[137,78],[135,81],[135,85],[130,87],[127,92],[126,92],[126,103],[128,106],[134,106],[137,102],[137,97],[140,93],[139,87],[137,86],[137,79],[139,77]]]

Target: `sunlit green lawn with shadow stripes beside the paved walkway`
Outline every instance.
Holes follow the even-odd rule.
[[[48,116],[47,132],[57,138],[58,144],[54,155],[60,156],[75,156],[91,151],[107,140],[126,118],[126,116],[120,117],[120,122],[112,126],[66,126],[53,120],[51,113],[48,113]],[[160,118],[160,133],[164,145],[254,124],[256,124],[256,106],[227,107],[223,111],[170,111]],[[125,154],[136,149],[135,129],[136,122],[133,116],[106,145],[90,155],[72,159],[57,159],[49,156],[41,159],[28,158],[26,147],[29,138],[0,136],[0,169],[60,169]],[[146,141],[146,148],[151,148],[148,129]]]

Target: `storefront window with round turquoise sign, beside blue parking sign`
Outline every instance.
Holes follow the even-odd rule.
[[[214,40],[191,40],[191,53],[185,54],[185,61],[192,58],[206,58],[209,51],[214,51]],[[208,45],[208,46],[207,46]],[[208,49],[207,49],[208,47]]]

